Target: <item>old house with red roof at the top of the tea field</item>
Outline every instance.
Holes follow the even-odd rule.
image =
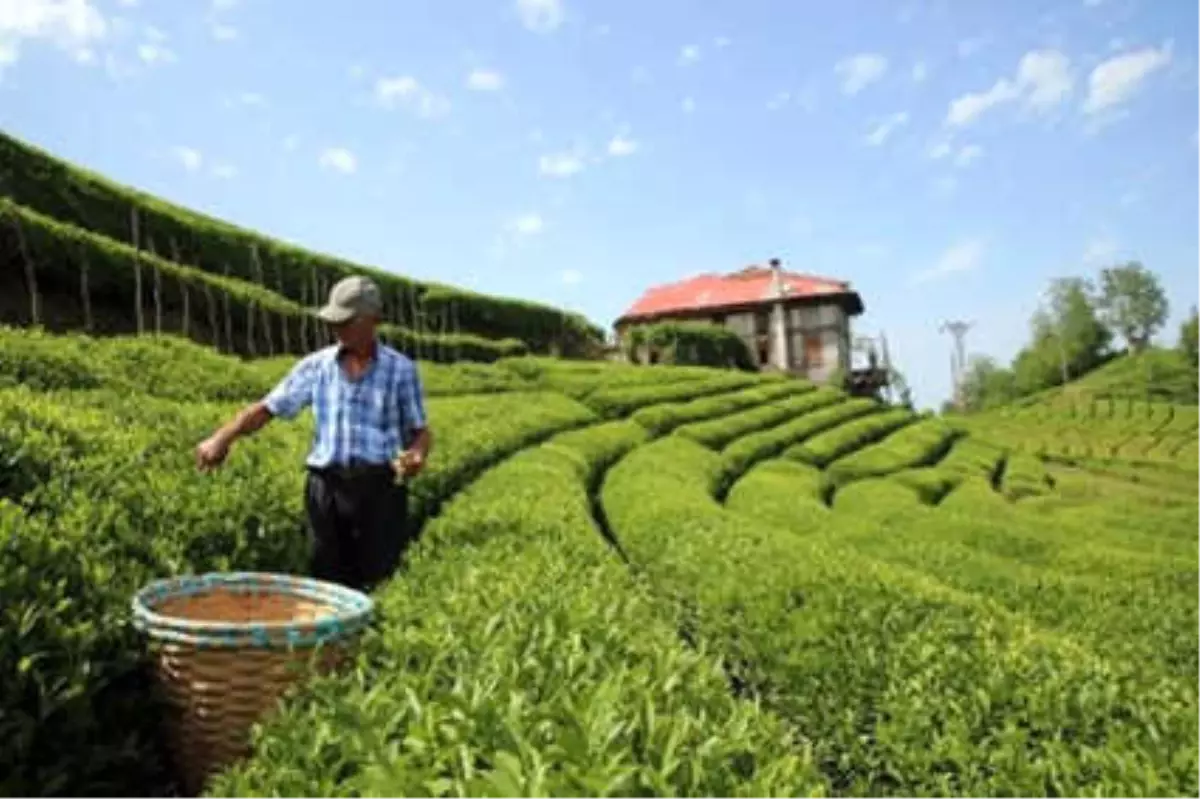
[[[880,368],[874,342],[851,336],[850,320],[862,313],[863,300],[848,282],[788,272],[772,259],[767,266],[655,286],[613,328],[623,346],[629,330],[638,325],[666,320],[725,325],[746,342],[760,368],[815,383],[840,371],[852,385],[874,394],[887,383],[886,368]],[[853,362],[864,343],[870,352],[865,368]]]

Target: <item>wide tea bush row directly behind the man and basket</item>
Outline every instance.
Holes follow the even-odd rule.
[[[272,425],[210,477],[191,446],[233,410],[110,391],[0,390],[0,794],[162,780],[130,596],[163,575],[304,571],[305,423]],[[414,523],[514,451],[594,419],[566,397],[428,403],[437,449]],[[86,553],[86,557],[80,557]]]

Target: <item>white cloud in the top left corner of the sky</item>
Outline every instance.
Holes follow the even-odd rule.
[[[16,64],[25,42],[50,44],[88,64],[107,35],[108,22],[90,0],[0,0],[0,65]]]

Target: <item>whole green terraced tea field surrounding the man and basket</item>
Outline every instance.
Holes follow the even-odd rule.
[[[310,431],[199,475],[286,361],[2,337],[0,788],[142,793],[167,775],[128,597],[300,570]],[[1200,793],[1194,408],[948,421],[700,368],[422,374],[412,560],[353,673],[211,795]]]

